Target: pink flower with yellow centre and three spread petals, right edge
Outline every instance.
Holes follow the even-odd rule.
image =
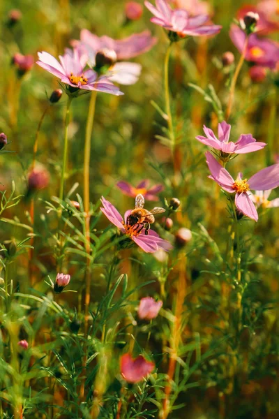
[[[236,208],[250,219],[257,221],[258,215],[250,189],[266,191],[279,186],[279,164],[273,164],[268,168],[259,170],[250,179],[242,179],[242,174],[236,180],[229,175],[229,172],[214,159],[210,152],[206,152],[206,163],[211,171],[211,179],[215,180],[224,191],[236,193]]]

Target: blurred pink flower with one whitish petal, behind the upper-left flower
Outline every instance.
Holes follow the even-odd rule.
[[[72,44],[75,48],[87,54],[89,64],[92,67],[96,66],[96,54],[98,52],[105,50],[105,52],[113,53],[115,59],[109,67],[110,80],[129,85],[137,82],[142,66],[137,63],[116,61],[137,57],[137,55],[149,51],[156,42],[157,39],[153,38],[149,31],[133,34],[121,40],[114,40],[109,36],[99,38],[87,29],[82,29],[80,41],[72,41]]]

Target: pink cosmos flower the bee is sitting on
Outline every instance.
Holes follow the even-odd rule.
[[[108,200],[102,197],[101,202],[104,207],[100,208],[100,210],[105,214],[107,219],[109,219],[114,226],[119,228],[121,233],[130,237],[130,239],[132,239],[137,246],[141,247],[142,250],[146,251],[146,253],[153,253],[159,249],[163,249],[165,251],[172,249],[172,245],[167,242],[167,240],[161,239],[155,231],[149,230],[149,234],[146,235],[144,228],[139,232],[137,225],[127,226],[126,220],[131,210],[126,211],[124,215],[124,222],[122,216]]]

